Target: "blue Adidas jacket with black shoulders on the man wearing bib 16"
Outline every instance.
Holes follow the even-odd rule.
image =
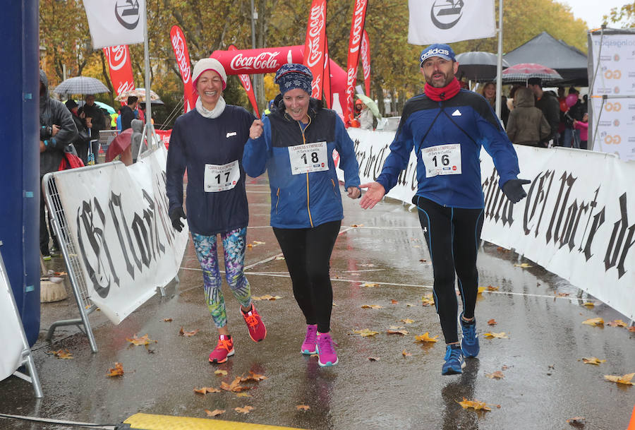
[[[461,148],[461,174],[426,177],[422,149],[456,143]],[[404,106],[399,129],[390,144],[390,154],[377,182],[384,186],[386,192],[392,189],[401,170],[408,166],[414,149],[417,156],[417,196],[452,208],[483,208],[481,146],[494,160],[500,175],[499,186],[502,187],[509,179],[516,179],[519,174],[516,150],[492,107],[481,95],[461,90],[442,102],[418,95]]]

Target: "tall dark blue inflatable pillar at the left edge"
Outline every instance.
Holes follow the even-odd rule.
[[[40,333],[40,3],[0,14],[0,252],[32,346]]]

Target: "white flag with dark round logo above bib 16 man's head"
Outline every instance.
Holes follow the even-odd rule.
[[[409,0],[408,42],[450,43],[496,35],[494,0]]]

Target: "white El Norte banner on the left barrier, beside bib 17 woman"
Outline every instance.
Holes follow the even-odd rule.
[[[115,324],[179,271],[188,229],[171,225],[165,192],[167,150],[160,146],[126,167],[54,174],[88,294]]]

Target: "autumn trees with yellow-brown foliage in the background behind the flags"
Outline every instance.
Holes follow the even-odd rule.
[[[255,24],[256,47],[277,47],[304,43],[310,0],[253,0],[258,19]],[[327,37],[329,54],[337,64],[346,65],[348,36],[351,28],[352,0],[329,0]],[[174,59],[169,31],[179,25],[186,35],[192,60],[209,56],[216,49],[234,44],[238,49],[252,47],[251,0],[147,0],[148,37],[152,89],[166,103],[155,121],[162,123],[183,96],[179,68]],[[633,16],[634,5],[620,9]],[[624,9],[626,8],[626,9]],[[540,32],[547,31],[586,52],[586,24],[574,18],[569,6],[556,0],[504,0],[503,51],[509,52]],[[497,8],[496,8],[497,13]],[[630,13],[630,15],[629,15]],[[365,30],[370,38],[371,94],[382,100],[392,96],[400,112],[403,103],[423,90],[417,64],[422,47],[408,44],[408,2],[406,0],[370,0]],[[617,16],[617,11],[616,11]],[[40,1],[40,45],[45,48],[42,66],[52,87],[66,76],[93,76],[111,88],[107,61],[101,50],[93,51],[83,4],[75,0]],[[452,44],[456,53],[496,52],[497,37]],[[143,44],[131,45],[135,83],[143,86]],[[359,67],[358,82],[362,82]],[[265,77],[269,95],[276,92],[272,79]],[[247,97],[236,76],[228,79],[225,90],[228,103],[248,107]],[[112,95],[98,95],[113,102]],[[262,105],[265,100],[259,100]],[[383,103],[379,104],[383,109]]]

